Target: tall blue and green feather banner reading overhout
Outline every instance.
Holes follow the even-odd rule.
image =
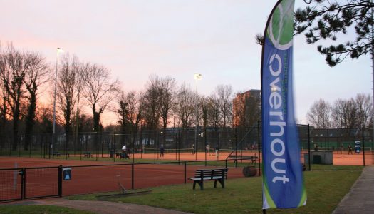
[[[306,204],[294,116],[294,0],[279,0],[264,32],[261,64],[263,208]]]

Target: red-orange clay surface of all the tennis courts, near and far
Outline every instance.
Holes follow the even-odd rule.
[[[245,155],[258,154],[254,151],[238,153]],[[167,153],[164,157],[158,154],[135,154],[130,159],[142,158],[157,161],[177,161],[178,159],[186,161],[200,160],[208,161],[224,160],[229,153],[220,153],[219,157],[215,153]],[[95,158],[95,154],[93,157]],[[100,155],[101,157],[101,155]],[[63,158],[63,157],[60,157]],[[71,180],[63,181],[63,195],[75,195],[84,193],[98,193],[109,191],[120,191],[120,185],[125,189],[149,188],[159,185],[172,185],[191,183],[187,178],[193,177],[195,170],[199,168],[212,168],[212,166],[185,165],[182,162],[178,164],[134,164],[123,165],[119,158],[108,158],[108,161],[85,161],[64,159],[41,159],[41,158],[18,158],[18,157],[0,157],[1,168],[31,168],[31,167],[53,167],[46,169],[27,169],[26,170],[26,198],[41,197],[46,195],[58,195],[58,165],[71,167]],[[365,153],[365,165],[373,165],[373,154]],[[301,155],[303,162],[303,155]],[[114,164],[109,165],[108,164]],[[122,164],[122,165],[120,165]],[[363,165],[363,153],[333,153],[334,165]],[[82,165],[97,165],[90,167],[79,167]],[[99,166],[107,165],[107,166]],[[242,168],[229,168],[229,179],[240,178]],[[210,188],[207,186],[207,188]],[[0,200],[16,199],[21,197],[21,175],[18,170],[0,170]]]

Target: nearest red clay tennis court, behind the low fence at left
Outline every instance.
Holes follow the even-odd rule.
[[[0,168],[14,168],[15,166],[26,168],[26,190],[24,193],[26,198],[58,195],[58,165],[71,168],[71,180],[63,180],[62,182],[62,195],[75,195],[120,191],[121,185],[128,190],[181,184],[185,181],[190,183],[187,178],[193,177],[195,170],[214,168],[204,166],[203,162],[201,164],[185,165],[184,162],[180,165],[177,163],[130,164],[108,161],[0,157]],[[228,179],[243,177],[241,170],[242,168],[229,168]],[[19,169],[0,170],[0,180],[0,200],[20,197],[21,175],[19,175]],[[213,186],[207,185],[207,188],[213,188]]]

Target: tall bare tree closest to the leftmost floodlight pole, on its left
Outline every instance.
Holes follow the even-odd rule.
[[[46,63],[46,59],[38,53],[26,53],[24,55],[28,61],[28,68],[24,78],[24,85],[27,91],[27,114],[26,114],[26,128],[25,128],[25,143],[24,150],[28,150],[28,145],[31,141],[31,133],[33,133],[33,126],[35,124],[36,116],[36,101],[40,87],[50,81],[51,69]]]

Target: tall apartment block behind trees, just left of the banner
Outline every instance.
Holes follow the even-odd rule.
[[[232,101],[232,115],[234,127],[246,126],[246,123],[254,122],[261,118],[261,90],[251,89],[244,93],[237,93]],[[256,115],[257,114],[257,115]]]

